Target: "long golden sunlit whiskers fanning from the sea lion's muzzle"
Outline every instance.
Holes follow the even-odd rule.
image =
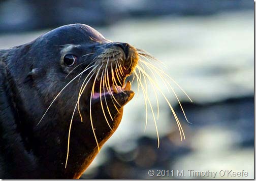
[[[100,48],[102,48],[102,47],[100,47]],[[170,80],[172,82],[174,82],[187,97],[188,97],[188,95],[183,91],[183,89],[178,85],[177,82],[175,82],[167,73],[165,73],[163,71],[162,68],[156,67],[152,63],[152,61],[153,61],[153,62],[157,62],[157,63],[163,64],[162,62],[158,61],[153,56],[151,56],[149,53],[145,52],[144,50],[136,49],[136,51],[137,51],[137,54],[139,56],[139,61],[134,63],[133,62],[133,58],[132,58],[131,63],[130,63],[128,68],[132,67],[132,75],[131,75],[131,76],[133,76],[132,83],[133,83],[133,81],[136,78],[138,93],[139,93],[140,88],[142,89],[142,93],[143,93],[143,97],[144,97],[144,101],[145,101],[145,110],[146,110],[145,129],[147,127],[148,104],[149,104],[149,108],[151,110],[151,113],[152,113],[152,116],[153,116],[153,120],[154,120],[154,125],[155,125],[155,130],[156,130],[156,135],[157,135],[157,148],[158,148],[159,147],[159,135],[158,135],[158,129],[157,129],[156,120],[158,120],[158,117],[159,117],[159,104],[158,104],[158,95],[157,94],[160,93],[164,97],[164,99],[166,100],[168,106],[170,107],[170,109],[171,109],[171,111],[172,111],[172,113],[173,113],[173,115],[175,117],[177,126],[179,128],[179,132],[180,132],[180,140],[182,141],[183,138],[185,139],[185,134],[184,134],[184,131],[183,131],[182,126],[180,124],[180,121],[179,121],[179,119],[178,119],[178,117],[177,117],[177,115],[176,115],[176,113],[175,113],[171,103],[168,101],[167,97],[163,93],[162,88],[159,87],[159,85],[157,83],[157,80],[156,80],[156,76],[161,78],[161,80],[164,82],[164,84],[165,84],[166,88],[168,89],[168,91],[170,89],[172,90],[172,92],[174,93],[174,95],[175,95],[175,97],[176,97],[176,99],[177,99],[177,101],[178,101],[178,103],[180,105],[180,108],[181,108],[181,110],[182,110],[186,120],[187,120],[187,117],[185,115],[183,107],[182,107],[182,105],[181,105],[181,103],[180,103],[180,101],[179,101],[179,99],[178,99],[178,97],[177,97],[173,87],[170,84]],[[93,94],[94,94],[95,82],[97,80],[100,80],[100,102],[101,102],[102,111],[103,111],[104,117],[106,119],[106,122],[107,122],[108,126],[110,127],[110,129],[112,131],[112,128],[111,128],[111,126],[110,126],[110,124],[108,122],[109,120],[107,119],[106,114],[109,114],[109,116],[112,119],[112,121],[113,121],[113,116],[111,115],[110,110],[108,108],[108,103],[106,101],[105,94],[108,93],[109,95],[111,95],[111,100],[113,102],[113,105],[115,106],[116,110],[118,111],[118,108],[116,107],[116,105],[119,105],[119,103],[114,98],[114,95],[113,95],[113,93],[111,91],[111,88],[113,90],[114,87],[111,87],[109,80],[110,79],[112,80],[113,85],[117,85],[117,82],[122,84],[122,82],[121,82],[122,78],[121,77],[125,76],[124,72],[123,72],[123,69],[126,69],[127,67],[125,68],[123,66],[123,60],[121,58],[119,58],[119,57],[115,58],[114,53],[113,53],[114,61],[113,60],[110,61],[109,58],[105,60],[104,56],[106,56],[106,54],[108,54],[108,53],[109,52],[105,51],[102,54],[100,54],[98,56],[95,56],[93,61],[82,72],[78,73],[69,83],[67,83],[61,89],[61,91],[57,94],[57,96],[53,99],[53,101],[51,102],[50,106],[47,108],[47,110],[45,111],[45,113],[42,116],[41,120],[39,121],[39,123],[42,121],[42,119],[44,118],[45,114],[48,112],[48,110],[50,109],[50,107],[52,106],[54,101],[58,98],[58,96],[63,92],[63,90],[71,82],[73,82],[78,77],[79,77],[79,81],[80,81],[80,78],[82,77],[82,74],[84,72],[89,72],[87,74],[87,76],[84,78],[83,83],[82,83],[82,85],[81,85],[81,87],[79,89],[77,103],[75,105],[75,108],[74,108],[74,111],[73,111],[73,114],[72,114],[72,117],[71,117],[70,127],[69,127],[69,135],[68,135],[67,159],[66,159],[66,166],[65,166],[65,168],[67,167],[68,158],[69,158],[70,133],[71,133],[73,117],[74,117],[74,114],[75,114],[76,110],[78,110],[80,118],[81,118],[81,121],[83,121],[82,114],[80,112],[79,101],[80,101],[80,98],[81,98],[83,92],[85,91],[86,86],[88,85],[88,82],[91,81],[91,80],[93,80],[93,83],[92,83],[92,88],[91,88],[90,105],[89,105],[89,107],[90,107],[90,123],[91,123],[91,128],[92,128],[92,131],[93,131],[93,134],[94,134],[95,142],[97,143],[97,147],[98,147],[99,151],[100,151],[100,147],[99,147],[99,143],[98,143],[95,131],[94,131],[93,121],[92,121],[93,119],[92,119],[92,116],[91,116],[91,100],[92,100],[92,97],[93,97]],[[88,55],[91,55],[91,54],[86,54],[84,56],[88,56]],[[81,64],[77,65],[74,69],[76,69],[80,65]],[[111,71],[111,75],[109,75],[109,70]],[[67,76],[69,76],[69,74]],[[114,75],[116,76],[117,79],[115,79]],[[155,95],[156,104],[157,104],[157,116],[155,116],[155,112],[154,112],[153,107],[152,107],[152,103],[151,103],[152,100],[150,101],[151,96],[148,96],[148,86],[149,85],[153,89],[153,92],[154,92],[154,95]],[[105,87],[106,87],[106,90],[105,90]],[[104,99],[105,101],[102,100],[102,90],[103,90],[103,95],[105,97],[105,99]],[[191,101],[191,99],[189,97],[188,97],[188,99]],[[107,112],[103,108],[104,104],[107,107]],[[187,120],[187,122],[188,122],[188,120]]]

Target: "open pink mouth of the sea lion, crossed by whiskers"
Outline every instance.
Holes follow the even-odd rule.
[[[100,97],[114,96],[120,93],[127,93],[131,91],[131,82],[125,79],[131,75],[130,70],[122,70],[122,73],[108,72],[107,76],[99,78],[95,81],[94,93],[92,99],[98,99]]]

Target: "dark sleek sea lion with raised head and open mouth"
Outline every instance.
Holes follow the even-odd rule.
[[[79,178],[133,98],[137,63],[84,24],[0,50],[0,177]]]

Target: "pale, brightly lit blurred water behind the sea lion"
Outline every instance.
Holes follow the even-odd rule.
[[[180,84],[195,103],[210,104],[228,98],[253,96],[253,12],[251,11],[207,17],[167,16],[155,19],[133,19],[110,27],[96,27],[96,29],[107,39],[129,42],[161,60],[167,66],[163,69]],[[2,34],[0,49],[33,40],[43,32],[45,31]],[[158,82],[160,83],[161,80]],[[174,83],[172,85],[180,100],[188,101],[180,89]],[[175,106],[177,101],[173,93],[168,93],[164,83],[160,83],[159,86]],[[132,85],[135,91],[136,87],[136,84]],[[152,90],[149,94],[153,95]],[[152,105],[156,112],[156,102]],[[248,118],[251,122],[243,122],[234,117],[234,122],[237,124],[229,127],[232,120],[225,123],[228,110],[217,106],[216,109],[204,110],[200,113],[190,112],[187,116],[188,120],[194,121],[190,125],[180,114],[180,121],[186,133],[186,141],[180,142],[175,119],[171,116],[168,104],[161,97],[159,97],[159,109],[157,127],[160,138],[173,133],[172,141],[175,145],[191,150],[185,155],[177,153],[178,156],[166,168],[197,171],[246,170],[249,176],[245,178],[253,178],[253,148],[237,147],[237,143],[243,139],[243,132],[239,132],[237,126],[253,125],[253,118]],[[216,111],[218,109],[221,111]],[[242,106],[239,109],[246,108]],[[253,115],[253,112],[249,114]],[[108,147],[112,147],[117,152],[126,153],[139,146],[137,140],[142,136],[156,139],[152,116],[149,115],[146,131],[144,131],[145,119],[144,99],[140,92],[125,106],[118,129],[89,166],[88,174],[93,173],[108,160],[105,154]],[[247,128],[241,127],[241,129],[246,132]],[[250,138],[253,137],[253,131],[253,128],[247,131]],[[156,141],[155,147],[157,147]],[[170,152],[171,149],[169,149]],[[157,150],[155,153],[160,154]],[[151,178],[147,175],[147,171],[144,170],[142,173],[144,176],[138,176],[138,178]],[[185,174],[188,178],[187,172]]]

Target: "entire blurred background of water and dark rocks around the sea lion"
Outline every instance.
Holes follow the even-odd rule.
[[[2,0],[0,49],[71,23],[88,24],[107,39],[149,52],[193,100],[172,84],[189,124],[174,94],[160,84],[186,140],[180,141],[174,116],[159,97],[157,149],[150,115],[144,131],[140,91],[81,178],[212,178],[189,177],[187,170],[245,170],[248,176],[240,178],[254,178],[253,1]],[[136,87],[134,82],[135,93]],[[156,102],[152,106],[156,112]],[[186,177],[150,177],[150,169],[184,170]]]

